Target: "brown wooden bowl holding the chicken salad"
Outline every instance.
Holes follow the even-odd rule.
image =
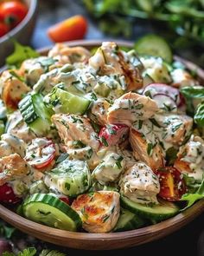
[[[124,41],[116,41],[118,45],[125,47],[132,47],[132,43]],[[99,46],[99,41],[74,41],[69,42],[69,46],[84,46],[87,49]],[[46,55],[48,49],[39,50],[41,55]],[[204,70],[200,69],[192,62],[188,62],[175,56],[175,59],[187,64],[188,69],[197,70],[197,73],[204,81]],[[24,233],[29,233],[40,240],[44,240],[55,245],[67,246],[77,249],[85,250],[111,250],[124,247],[137,246],[148,243],[153,240],[159,240],[169,233],[182,228],[194,220],[198,215],[204,212],[204,200],[197,201],[194,206],[189,207],[187,210],[175,215],[168,220],[163,220],[155,225],[138,228],[131,231],[119,233],[77,233],[56,229],[49,226],[43,226],[31,220],[27,220],[20,215],[10,211],[8,208],[0,205],[0,217],[16,226]]]

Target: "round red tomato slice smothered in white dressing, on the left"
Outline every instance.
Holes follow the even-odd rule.
[[[27,148],[25,157],[25,160],[36,169],[48,167],[54,160],[56,153],[53,141],[46,138],[41,139],[43,139],[43,143],[41,143],[41,145],[36,142],[39,140],[38,138],[32,141],[32,144]]]

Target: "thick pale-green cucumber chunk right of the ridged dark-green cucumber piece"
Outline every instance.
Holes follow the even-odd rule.
[[[56,113],[83,115],[90,105],[90,101],[85,97],[73,95],[58,87],[54,87],[53,91],[45,98]]]

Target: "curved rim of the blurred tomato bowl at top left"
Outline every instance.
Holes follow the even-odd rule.
[[[29,11],[27,15],[24,17],[22,22],[19,23],[13,30],[10,30],[6,35],[0,37],[0,43],[9,41],[10,38],[15,36],[18,32],[20,32],[24,27],[27,26],[30,19],[35,15],[35,11],[37,9],[37,1],[38,0],[30,0]]]

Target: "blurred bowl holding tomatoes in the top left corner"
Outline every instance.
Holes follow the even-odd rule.
[[[23,2],[29,7],[27,15],[16,28],[0,37],[0,67],[3,66],[5,58],[9,56],[13,50],[13,43],[10,41],[10,38],[14,38],[22,44],[30,43],[35,28],[37,0],[23,0]]]

